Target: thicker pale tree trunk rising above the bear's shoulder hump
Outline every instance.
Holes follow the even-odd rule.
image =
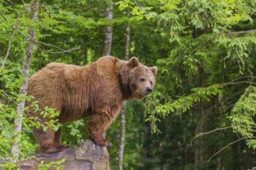
[[[112,14],[112,0],[109,1],[109,6],[105,8],[104,10],[104,16],[109,19],[109,21],[112,20],[113,14]],[[107,26],[104,29],[104,43],[103,43],[103,53],[102,56],[109,56],[111,53],[111,46],[112,46],[112,26]]]

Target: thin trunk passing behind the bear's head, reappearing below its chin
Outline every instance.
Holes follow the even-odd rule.
[[[126,12],[126,15],[129,17],[130,12]],[[128,60],[130,55],[130,25],[126,26],[126,48],[124,59]],[[124,150],[124,141],[126,133],[126,104],[123,105],[121,111],[121,135],[120,135],[120,145],[119,145],[119,158],[118,158],[118,169],[123,170],[123,150]]]

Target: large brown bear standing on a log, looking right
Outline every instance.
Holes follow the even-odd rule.
[[[53,107],[60,111],[61,124],[90,116],[88,130],[97,145],[111,147],[104,138],[109,125],[116,119],[124,100],[142,100],[153,89],[157,67],[147,67],[136,57],[129,61],[114,56],[103,56],[92,64],[74,66],[64,63],[50,63],[29,79],[28,95],[34,99],[26,106],[38,101],[40,109]],[[39,116],[43,122],[50,121],[28,111],[28,116]],[[54,153],[66,148],[61,145],[61,128],[35,128],[34,134],[40,144],[40,151]]]

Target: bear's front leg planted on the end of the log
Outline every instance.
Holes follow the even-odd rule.
[[[115,117],[110,117],[104,112],[96,112],[90,117],[88,130],[90,131],[92,141],[94,141],[97,145],[112,147],[112,143],[104,138],[104,134],[114,118]]]

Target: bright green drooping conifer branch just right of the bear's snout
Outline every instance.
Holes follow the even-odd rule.
[[[160,132],[157,129],[157,121],[161,121],[159,118],[155,116],[155,114],[161,117],[167,117],[168,114],[182,114],[187,110],[191,109],[197,102],[199,101],[209,101],[211,97],[216,96],[222,93],[222,86],[219,84],[214,84],[211,87],[198,87],[192,89],[192,92],[188,96],[178,97],[178,99],[174,100],[171,98],[162,98],[161,93],[156,93],[147,97],[147,102],[144,105],[149,116],[146,121],[150,121],[150,126],[152,132]],[[158,94],[158,95],[157,95]],[[160,100],[164,100],[164,104],[161,104]]]

